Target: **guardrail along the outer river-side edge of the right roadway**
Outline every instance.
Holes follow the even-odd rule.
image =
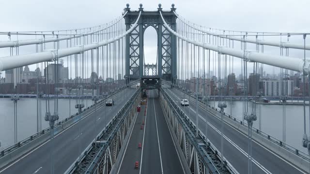
[[[168,82],[165,82],[165,83],[171,85],[171,83],[168,83]],[[196,100],[196,98],[195,98],[194,96],[191,96],[190,94],[188,94],[188,93],[186,93],[185,91],[179,89],[178,87],[175,87],[175,86],[174,86],[174,88],[178,89],[180,92],[185,93],[185,94],[188,95],[191,99],[195,99],[195,100]],[[193,101],[193,100],[192,100],[192,101]],[[207,102],[204,102],[204,101],[202,101],[202,100],[200,100],[200,99],[199,99],[198,101],[199,101],[200,103],[204,104],[206,107],[208,107],[208,108],[210,108],[210,109],[213,109],[213,110],[216,111],[217,113],[219,113],[219,114],[221,113],[221,111],[220,111],[219,109],[217,109],[217,108],[215,108],[215,107],[209,105]],[[195,101],[193,101],[193,102],[195,102]],[[233,116],[231,116],[231,115],[229,115],[229,114],[227,114],[227,113],[225,113],[225,112],[223,113],[223,115],[224,115],[225,117],[229,118],[230,120],[233,120],[234,122],[236,122],[236,123],[238,123],[239,125],[241,125],[241,126],[243,126],[243,127],[245,127],[245,128],[248,129],[248,124],[245,123],[245,122],[243,122],[242,120],[239,120],[238,118],[233,117]],[[271,136],[271,135],[269,135],[269,134],[267,134],[267,133],[265,133],[265,132],[263,132],[263,131],[261,131],[261,130],[255,128],[255,127],[252,127],[252,131],[255,132],[255,133],[257,133],[258,135],[262,136],[263,138],[265,138],[265,139],[267,139],[267,140],[273,142],[274,144],[279,145],[279,146],[281,146],[282,148],[284,148],[284,149],[286,149],[286,150],[288,150],[288,151],[294,153],[295,155],[297,155],[297,156],[299,156],[299,157],[301,157],[301,158],[303,158],[303,159],[305,159],[305,160],[310,160],[310,156],[309,156],[308,154],[306,154],[306,153],[304,153],[304,152],[302,152],[302,151],[299,151],[298,149],[296,149],[296,148],[293,147],[292,145],[289,145],[289,144],[287,144],[287,143],[285,143],[285,142],[282,142],[282,141],[280,141],[279,139],[277,139],[277,138],[275,138],[275,137],[273,137],[273,136]]]

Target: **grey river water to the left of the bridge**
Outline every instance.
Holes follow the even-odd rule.
[[[71,108],[71,115],[78,112],[75,108],[76,100],[59,99],[58,110],[59,120],[61,121],[69,116],[69,107]],[[69,105],[71,103],[71,105]],[[92,100],[85,100],[85,107],[90,106]],[[37,100],[30,98],[20,98],[17,101],[17,140],[21,141],[37,131]],[[54,113],[54,100],[50,100],[50,113]],[[45,100],[42,99],[42,130],[48,127],[48,122],[44,120],[46,113]],[[14,144],[14,104],[9,98],[0,99],[0,150]]]

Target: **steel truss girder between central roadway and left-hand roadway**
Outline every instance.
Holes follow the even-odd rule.
[[[136,107],[140,101],[140,90],[131,97],[124,107],[113,117],[108,126],[97,138],[96,143],[92,143],[86,149],[81,161],[76,162],[71,170],[72,174],[109,174],[120,149],[124,138],[128,133],[129,126],[136,112]]]

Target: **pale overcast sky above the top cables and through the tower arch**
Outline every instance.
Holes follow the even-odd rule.
[[[145,10],[156,10],[158,3],[169,10],[174,3],[176,12],[187,20],[213,28],[310,32],[310,0],[1,0],[0,31],[91,27],[120,16],[126,3],[132,10],[140,3]],[[145,36],[145,55],[155,55],[155,38],[155,30]]]

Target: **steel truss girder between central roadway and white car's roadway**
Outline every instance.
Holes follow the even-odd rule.
[[[188,167],[193,174],[231,174],[224,161],[224,167],[221,169],[221,160],[217,151],[211,149],[211,145],[205,142],[200,135],[197,139],[195,136],[196,128],[190,119],[183,113],[179,106],[170,98],[170,96],[161,88],[160,102],[163,106],[164,113],[172,126],[172,130],[178,139],[178,143],[183,150]],[[200,143],[203,142],[203,143]]]

